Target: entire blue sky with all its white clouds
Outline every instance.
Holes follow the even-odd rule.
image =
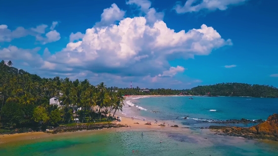
[[[28,3],[27,3],[28,2]],[[3,1],[0,60],[108,87],[278,87],[278,1]]]

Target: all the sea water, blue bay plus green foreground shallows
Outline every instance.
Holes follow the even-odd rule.
[[[135,104],[137,107],[132,110],[126,105],[123,114],[139,119],[157,119],[160,122],[175,121],[184,127],[199,127],[213,124],[208,122],[210,120],[267,119],[269,115],[278,111],[276,98],[199,96],[193,98],[162,96],[130,99],[127,103],[133,106]],[[189,116],[189,119],[181,118],[185,116]],[[187,132],[160,129],[79,131],[70,135],[0,143],[0,155],[278,155],[278,143],[275,141],[265,143],[240,137],[215,135],[209,129],[184,130]]]

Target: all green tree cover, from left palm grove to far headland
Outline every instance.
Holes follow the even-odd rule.
[[[117,111],[122,111],[122,95],[205,95],[210,92],[210,95],[222,96],[278,97],[278,89],[273,86],[243,83],[220,83],[183,90],[149,89],[150,93],[145,93],[139,87],[106,87],[104,83],[94,86],[87,79],[40,78],[12,65],[11,61],[0,63],[1,131],[9,131],[10,127],[71,124],[75,118],[82,123],[111,121]],[[60,103],[60,106],[50,105],[52,97],[57,98],[55,104]],[[81,109],[73,111],[74,108]],[[4,129],[7,127],[9,129]]]

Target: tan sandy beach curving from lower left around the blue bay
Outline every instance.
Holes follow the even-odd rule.
[[[128,107],[126,101],[132,100],[132,98],[144,98],[144,97],[151,97],[150,96],[127,96],[124,100],[125,109]],[[162,96],[162,95],[153,95],[153,96]],[[137,110],[136,107],[132,108],[135,112]],[[116,112],[116,117],[121,117],[121,122],[117,122],[118,124],[128,125],[129,127],[124,128],[111,128],[111,129],[103,129],[102,132],[109,132],[109,131],[148,131],[148,130],[158,130],[158,131],[188,131],[188,129],[180,128],[181,125],[174,123],[173,121],[163,121],[154,123],[153,119],[144,118],[142,119],[131,119],[131,117],[124,116],[121,112]],[[145,125],[147,122],[151,122],[151,125]],[[159,126],[160,124],[164,123],[166,126]],[[138,124],[134,124],[138,123]],[[168,126],[169,123],[169,126]],[[178,125],[179,127],[170,127],[173,125]],[[90,131],[82,131],[82,133],[98,133],[98,130],[90,130]],[[33,140],[33,139],[43,139],[49,137],[56,137],[61,135],[72,135],[78,132],[67,132],[67,133],[58,133],[58,134],[50,134],[44,132],[28,132],[28,133],[17,133],[17,134],[5,134],[0,135],[0,144],[9,143],[9,142],[17,142],[23,140]]]

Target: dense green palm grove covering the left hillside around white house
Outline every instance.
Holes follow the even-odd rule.
[[[0,63],[1,132],[22,127],[45,129],[73,123],[75,118],[82,123],[109,122],[122,111],[123,93],[108,90],[104,83],[94,86],[88,80],[40,78],[12,65],[11,61]],[[56,101],[50,104],[52,97]]]

